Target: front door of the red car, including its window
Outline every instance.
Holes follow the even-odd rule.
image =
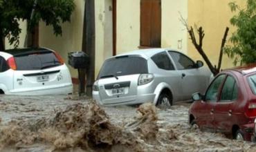
[[[216,77],[208,87],[203,99],[204,101],[195,103],[196,106],[193,111],[196,116],[196,123],[203,129],[214,129],[214,107],[217,104],[220,86],[223,84],[225,77],[226,75]]]

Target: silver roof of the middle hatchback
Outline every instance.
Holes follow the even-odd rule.
[[[139,50],[132,50],[128,53],[123,53],[123,54],[120,54],[120,55],[116,55],[116,56],[113,56],[111,58],[121,57],[121,56],[126,56],[126,55],[138,55],[138,56],[141,56],[145,59],[149,59],[153,55],[156,55],[157,53],[161,53],[161,52],[166,51],[166,50],[178,51],[180,53],[183,53],[183,51],[175,50],[173,48],[145,48],[145,49],[139,49]]]

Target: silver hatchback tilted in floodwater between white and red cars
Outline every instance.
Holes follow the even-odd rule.
[[[204,93],[212,73],[178,50],[134,50],[110,57],[93,84],[93,99],[102,105],[143,104],[171,106]]]

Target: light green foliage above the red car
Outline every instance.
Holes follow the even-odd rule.
[[[249,64],[256,61],[256,1],[247,0],[246,8],[241,9],[235,2],[229,3],[232,12],[239,11],[230,19],[237,28],[230,37],[232,46],[226,46],[225,53],[234,59],[234,64]]]

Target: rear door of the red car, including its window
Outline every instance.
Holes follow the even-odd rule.
[[[234,77],[228,75],[223,87],[219,102],[214,107],[214,126],[217,131],[230,132],[234,121],[233,105],[237,100],[238,88]]]

